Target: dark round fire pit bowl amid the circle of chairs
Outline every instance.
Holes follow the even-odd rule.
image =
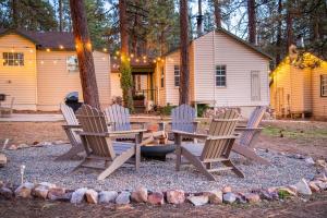
[[[168,141],[168,134],[165,131],[145,133],[141,145],[143,157],[162,161],[166,160],[167,154],[173,153],[175,149],[175,145]]]

